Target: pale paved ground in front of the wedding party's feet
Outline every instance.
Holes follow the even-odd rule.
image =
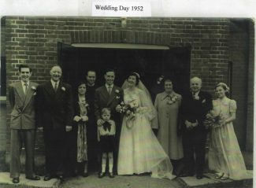
[[[8,172],[0,172],[0,187],[1,188],[184,188],[184,187],[252,187],[252,172],[248,171],[248,179],[241,181],[232,180],[217,180],[214,179],[213,174],[206,174],[208,178],[201,180],[195,179],[195,177],[176,178],[172,181],[169,179],[153,179],[149,175],[117,175],[114,179],[109,179],[108,176],[98,179],[97,174],[90,175],[87,178],[76,177],[66,179],[62,184],[57,179],[51,179],[48,182],[43,181],[31,181],[24,178],[24,175],[20,176],[20,183],[13,184],[9,179]]]

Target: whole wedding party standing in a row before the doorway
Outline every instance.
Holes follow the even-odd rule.
[[[177,94],[172,79],[161,76],[152,87],[158,91],[153,94],[137,72],[130,72],[121,87],[114,84],[118,78],[113,69],[106,69],[106,82],[99,87],[93,70],[76,86],[62,81],[59,65],[50,69],[50,80],[42,84],[30,81],[32,68],[28,65],[20,65],[18,72],[20,81],[9,85],[13,183],[20,182],[23,144],[25,177],[40,179],[34,171],[37,129],[43,131],[44,181],[87,177],[91,171],[98,171],[99,179],[144,174],[202,179],[206,166],[216,179],[247,176],[232,125],[236,101],[228,98],[225,83],[217,83],[213,100],[201,90],[198,77],[191,78],[187,93]]]

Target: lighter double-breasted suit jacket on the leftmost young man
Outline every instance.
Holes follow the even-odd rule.
[[[20,82],[9,85],[9,104],[12,112],[11,129],[35,129],[35,88],[37,83],[29,82],[27,95]]]

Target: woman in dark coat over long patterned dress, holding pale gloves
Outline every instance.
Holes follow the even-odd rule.
[[[75,116],[74,130],[76,133],[76,172],[83,177],[88,176],[87,172],[87,109],[88,104],[85,98],[86,83],[80,82],[75,95]]]

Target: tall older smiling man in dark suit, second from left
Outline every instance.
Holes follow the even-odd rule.
[[[64,181],[66,131],[71,131],[73,119],[72,88],[63,83],[61,67],[50,69],[50,81],[37,87],[39,127],[43,127],[46,152],[45,181],[58,177]]]

